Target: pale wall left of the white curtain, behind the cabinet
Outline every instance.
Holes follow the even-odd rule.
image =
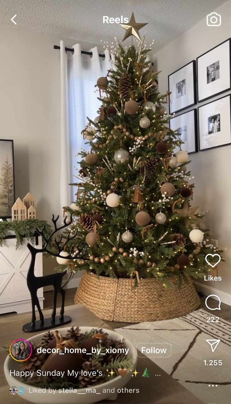
[[[60,213],[60,55],[53,45],[95,44],[5,25],[0,38],[0,139],[14,140],[16,197],[30,191],[38,219],[51,221]],[[56,265],[45,259],[44,272]]]

